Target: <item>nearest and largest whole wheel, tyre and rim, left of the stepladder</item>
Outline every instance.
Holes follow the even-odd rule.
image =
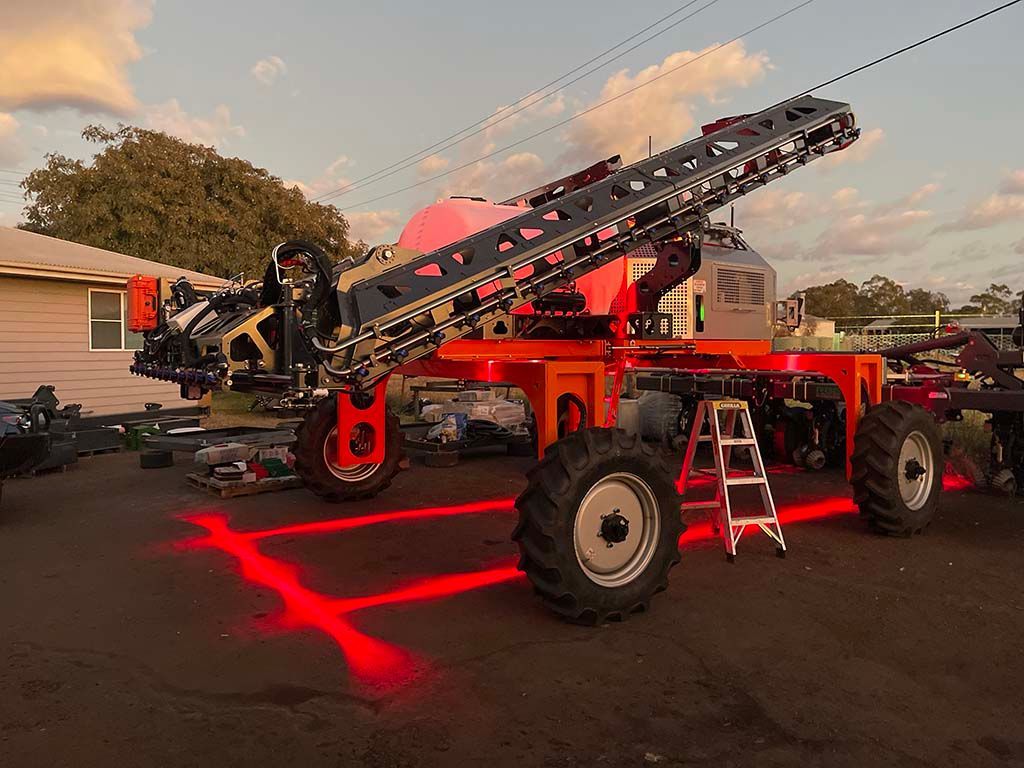
[[[679,562],[678,467],[621,429],[583,429],[549,446],[516,500],[525,571],[544,602],[580,624],[645,610]]]

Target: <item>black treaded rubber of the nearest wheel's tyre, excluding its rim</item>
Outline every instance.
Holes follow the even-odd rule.
[[[516,500],[519,523],[512,538],[519,544],[519,569],[552,610],[579,624],[623,621],[646,610],[651,597],[668,587],[685,529],[675,486],[678,472],[667,451],[621,429],[579,430],[548,447]],[[628,583],[607,587],[581,564],[575,523],[587,494],[616,473],[646,484],[656,502],[658,526],[651,528],[656,534],[642,569]]]

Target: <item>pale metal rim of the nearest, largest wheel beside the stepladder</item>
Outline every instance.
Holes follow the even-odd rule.
[[[625,518],[628,534],[620,542],[602,536],[612,515]],[[577,561],[590,581],[623,587],[636,580],[657,549],[662,520],[654,492],[629,472],[602,477],[587,492],[577,511],[573,544]],[[608,545],[611,546],[608,546]]]

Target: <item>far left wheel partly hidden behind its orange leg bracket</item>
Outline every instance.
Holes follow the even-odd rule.
[[[377,496],[391,484],[401,461],[398,417],[385,416],[384,461],[340,466],[337,461],[338,414],[333,397],[310,411],[295,431],[295,471],[306,487],[329,502]]]

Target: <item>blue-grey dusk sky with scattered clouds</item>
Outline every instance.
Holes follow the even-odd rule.
[[[502,200],[613,154],[639,160],[648,136],[669,148],[1000,4],[813,0],[729,42],[799,2],[699,0],[521,102],[686,3],[0,0],[0,225],[20,220],[16,184],[46,154],[88,160],[82,128],[125,123],[245,158],[310,198],[415,155],[331,201],[355,237],[392,242],[439,198]],[[954,303],[992,282],[1024,289],[1021,30],[1024,3],[815,91],[853,105],[861,139],[735,211],[782,290],[874,273]]]

